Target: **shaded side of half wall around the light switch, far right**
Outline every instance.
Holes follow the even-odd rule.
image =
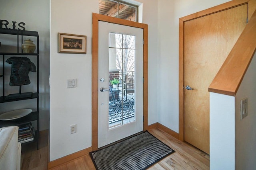
[[[236,93],[236,169],[256,167],[256,53]],[[240,100],[248,98],[248,116],[240,120]]]

